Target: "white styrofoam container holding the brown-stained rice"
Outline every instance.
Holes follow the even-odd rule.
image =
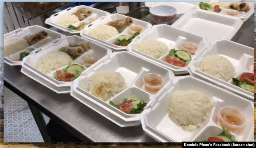
[[[101,100],[92,95],[88,90],[89,80],[96,72],[103,70],[119,72],[127,83],[127,88],[125,90],[107,101]],[[135,99],[143,100],[150,104],[150,102],[154,100],[154,96],[160,93],[160,91],[152,93],[145,90],[143,77],[148,73],[156,73],[163,77],[164,85],[160,91],[165,89],[169,85],[171,79],[174,78],[172,71],[158,66],[153,62],[138,57],[132,53],[128,53],[127,51],[115,52],[99,60],[98,63],[89,67],[78,79],[74,80],[73,91],[76,94],[71,93],[71,95],[85,105],[88,105],[88,102],[96,104],[97,108],[89,107],[121,127],[137,126],[141,124],[139,114],[126,114],[114,106],[111,106],[109,101],[111,100],[115,104],[120,104],[120,102],[124,101],[125,98],[130,100],[132,99],[132,95],[134,95]],[[100,110],[103,109],[98,108],[103,108],[105,111],[102,112]],[[108,115],[111,115],[111,117]]]

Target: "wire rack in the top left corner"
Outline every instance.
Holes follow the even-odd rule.
[[[31,20],[32,18],[73,3],[75,2],[11,2],[26,20]]]

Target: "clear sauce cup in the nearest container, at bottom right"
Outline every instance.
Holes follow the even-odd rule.
[[[227,106],[221,108],[218,114],[220,122],[228,129],[241,129],[245,127],[245,115],[236,108]]]

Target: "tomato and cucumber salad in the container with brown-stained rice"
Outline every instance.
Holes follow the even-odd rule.
[[[144,102],[143,100],[136,100],[134,96],[132,96],[132,99],[130,100],[128,100],[127,98],[124,99],[124,101],[121,102],[121,104],[119,105],[116,105],[112,101],[109,101],[109,104],[125,113],[130,113],[130,114],[141,113],[147,106],[146,102]]]

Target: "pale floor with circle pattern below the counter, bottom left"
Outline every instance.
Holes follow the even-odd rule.
[[[46,124],[49,118],[44,115]],[[4,87],[4,142],[44,142],[28,103]]]

